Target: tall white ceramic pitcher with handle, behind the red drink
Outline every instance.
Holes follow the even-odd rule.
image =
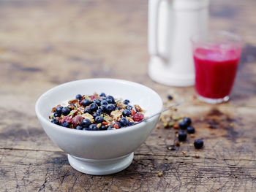
[[[190,37],[208,29],[209,0],[148,0],[149,76],[160,83],[195,83]]]

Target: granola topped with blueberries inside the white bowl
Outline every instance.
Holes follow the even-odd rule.
[[[129,100],[114,99],[105,93],[78,94],[68,104],[57,105],[49,117],[52,123],[78,130],[100,131],[132,126],[144,118],[144,110]]]

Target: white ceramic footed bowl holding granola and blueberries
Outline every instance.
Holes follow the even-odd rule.
[[[132,163],[133,152],[146,140],[156,126],[159,115],[135,126],[110,131],[83,131],[50,123],[52,107],[74,99],[80,94],[106,93],[129,99],[146,110],[146,117],[162,110],[159,95],[136,82],[116,79],[87,79],[67,82],[39,97],[36,113],[48,137],[68,153],[69,164],[87,174],[112,174]]]

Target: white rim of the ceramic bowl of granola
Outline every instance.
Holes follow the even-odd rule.
[[[157,112],[161,112],[161,110],[162,110],[163,103],[162,103],[161,97],[159,96],[159,94],[156,91],[154,91],[151,88],[148,88],[146,85],[142,85],[142,84],[140,84],[138,82],[132,82],[132,81],[129,81],[129,80],[121,80],[121,79],[114,79],[114,78],[89,78],[89,79],[65,82],[65,83],[62,83],[61,85],[57,85],[57,86],[55,86],[53,88],[50,88],[45,93],[42,93],[42,95],[39,96],[39,99],[37,99],[37,102],[35,104],[35,112],[36,112],[36,115],[37,115],[37,118],[39,119],[39,121],[42,121],[42,122],[46,123],[46,125],[54,128],[54,129],[58,129],[59,131],[69,132],[70,134],[99,136],[99,135],[102,135],[102,134],[104,134],[104,135],[122,134],[122,133],[125,133],[125,132],[133,131],[134,129],[143,127],[144,125],[146,125],[146,123],[150,123],[151,120],[153,120],[154,118],[157,118],[157,116],[156,116],[156,117],[154,117],[152,119],[149,119],[149,120],[147,120],[147,121],[145,121],[143,123],[135,124],[133,126],[127,126],[127,127],[124,127],[124,128],[113,129],[113,130],[102,130],[102,131],[89,131],[89,130],[87,130],[87,131],[83,131],[83,130],[77,130],[77,129],[74,129],[74,128],[64,128],[62,126],[53,124],[53,123],[50,122],[50,120],[48,120],[48,119],[46,119],[46,118],[44,118],[42,116],[42,114],[39,112],[40,111],[39,110],[39,104],[40,104],[40,101],[42,101],[42,99],[44,99],[45,96],[47,96],[50,92],[54,91],[56,88],[61,88],[61,87],[64,87],[64,86],[66,86],[68,84],[77,83],[77,82],[83,82],[83,81],[86,81],[86,82],[88,82],[88,81],[109,81],[109,82],[110,81],[117,81],[117,82],[129,84],[129,85],[137,85],[137,86],[146,88],[148,91],[151,91],[151,93],[153,93],[155,96],[157,96],[157,98],[160,101],[159,104],[161,106],[160,106],[159,111],[157,111]]]

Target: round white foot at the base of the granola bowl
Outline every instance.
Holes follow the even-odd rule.
[[[133,159],[133,153],[118,158],[109,159],[88,159],[78,158],[67,154],[69,164],[78,172],[94,175],[105,175],[121,172],[126,169]]]

